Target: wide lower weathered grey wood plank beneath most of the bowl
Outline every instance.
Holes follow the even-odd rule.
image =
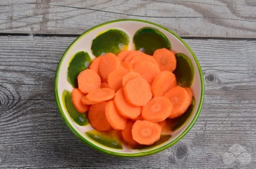
[[[55,69],[74,39],[0,37],[0,168],[256,167],[256,41],[185,39],[204,72],[201,115],[175,146],[125,159],[81,143],[58,113]]]

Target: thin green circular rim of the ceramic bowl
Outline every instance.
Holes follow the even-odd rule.
[[[196,62],[196,66],[199,70],[199,74],[200,74],[200,79],[201,79],[201,96],[200,96],[200,102],[199,102],[199,106],[198,109],[196,111],[196,115],[194,116],[193,120],[191,121],[191,123],[188,125],[188,127],[173,141],[171,141],[170,143],[163,145],[162,147],[159,147],[157,149],[154,150],[149,150],[149,151],[145,151],[145,152],[140,152],[140,153],[118,153],[118,152],[114,152],[114,151],[109,151],[107,149],[98,147],[97,145],[92,144],[90,141],[86,140],[79,132],[77,132],[77,130],[75,128],[73,128],[73,126],[69,123],[68,118],[64,115],[64,111],[61,108],[60,105],[60,99],[58,97],[58,78],[59,78],[59,71],[60,71],[60,66],[62,64],[62,61],[64,60],[64,57],[66,55],[66,53],[68,52],[69,49],[71,49],[71,47],[81,39],[81,37],[84,37],[87,33],[90,33],[91,31],[93,31],[94,29],[97,29],[103,25],[107,25],[107,24],[111,24],[114,22],[120,22],[120,21],[137,21],[137,22],[144,22],[144,23],[148,23],[151,25],[155,25],[158,26],[162,29],[165,29],[167,32],[171,33],[172,35],[174,35],[175,37],[177,37],[179,39],[179,41],[181,41],[183,43],[183,45],[186,46],[186,48],[189,50],[189,52],[192,54],[195,62]],[[113,156],[117,156],[117,157],[142,157],[142,156],[148,156],[154,153],[158,153],[162,150],[165,150],[166,148],[171,147],[172,145],[176,144],[179,140],[181,140],[188,132],[189,130],[193,127],[193,125],[196,123],[196,120],[198,119],[200,112],[201,112],[201,108],[203,105],[203,100],[204,100],[204,93],[205,93],[205,85],[204,85],[204,78],[203,78],[203,73],[201,70],[201,66],[196,58],[196,55],[193,53],[192,49],[190,49],[190,47],[187,45],[187,43],[185,41],[183,41],[183,39],[181,39],[181,37],[179,37],[176,33],[172,32],[171,30],[163,27],[162,25],[158,25],[154,22],[150,22],[150,21],[145,21],[145,20],[139,20],[139,19],[119,19],[119,20],[113,20],[113,21],[108,21],[108,22],[104,22],[102,24],[96,25],[90,29],[88,29],[87,31],[85,31],[84,33],[82,33],[80,36],[78,36],[69,46],[68,48],[65,50],[64,54],[62,55],[62,57],[60,58],[60,62],[58,63],[56,72],[55,72],[55,82],[54,82],[54,95],[55,95],[55,100],[57,103],[57,107],[59,110],[59,113],[62,117],[62,119],[64,120],[65,124],[68,126],[68,128],[73,132],[73,134],[75,136],[77,136],[77,138],[79,140],[81,140],[83,143],[87,144],[88,146],[90,146],[91,148],[94,148],[95,150],[102,152],[102,153],[106,153],[106,154],[110,154]]]

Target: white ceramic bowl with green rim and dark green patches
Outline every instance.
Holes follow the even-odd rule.
[[[101,54],[122,49],[153,54],[155,49],[173,50],[177,58],[175,76],[180,86],[191,87],[194,96],[186,113],[167,120],[166,130],[151,146],[128,146],[117,132],[97,132],[85,114],[78,113],[71,102],[77,87],[77,75]],[[81,34],[63,54],[55,75],[55,99],[64,122],[82,142],[102,152],[119,157],[140,157],[160,152],[177,143],[196,123],[204,98],[201,67],[189,46],[175,33],[149,21],[123,19],[97,25]]]

